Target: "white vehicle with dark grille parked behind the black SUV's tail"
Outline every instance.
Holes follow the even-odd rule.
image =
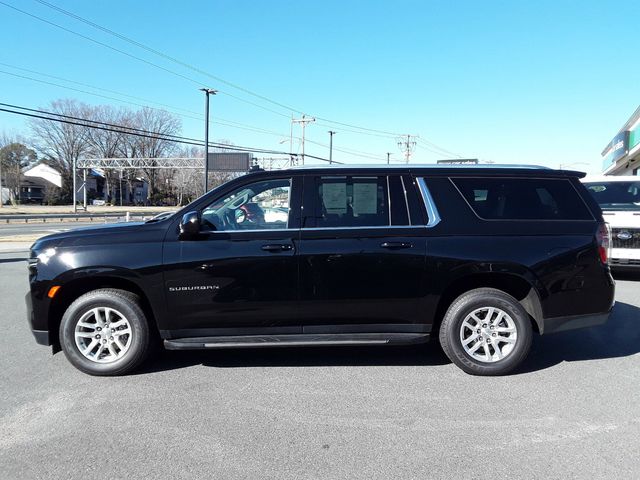
[[[586,177],[582,182],[611,226],[611,266],[640,269],[640,177]]]

